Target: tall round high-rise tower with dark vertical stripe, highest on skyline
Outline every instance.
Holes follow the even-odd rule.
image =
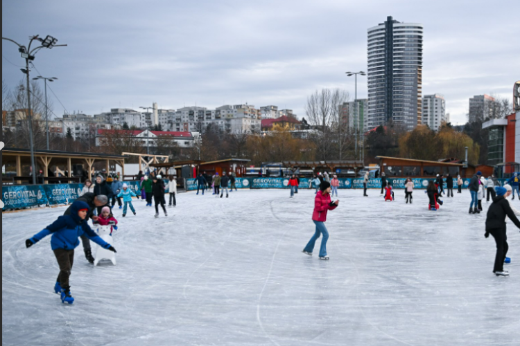
[[[422,38],[422,24],[392,17],[368,29],[365,128],[392,121],[411,130],[422,123]]]

